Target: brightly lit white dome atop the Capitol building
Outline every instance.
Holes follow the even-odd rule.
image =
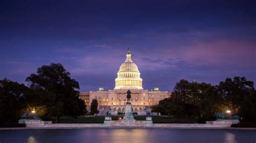
[[[114,89],[143,89],[139,69],[136,63],[131,60],[130,48],[128,48],[126,60],[120,66],[115,81],[116,87]]]

